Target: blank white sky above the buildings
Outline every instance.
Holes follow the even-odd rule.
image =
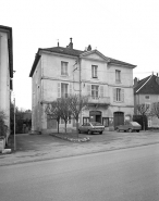
[[[158,0],[0,0],[0,25],[13,29],[16,106],[32,109],[29,72],[38,48],[91,45],[106,56],[137,65],[133,77],[159,73]]]

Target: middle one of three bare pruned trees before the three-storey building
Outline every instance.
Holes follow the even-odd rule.
[[[60,112],[61,118],[64,121],[65,124],[65,134],[66,134],[66,124],[71,117],[71,110],[69,104],[69,98],[60,98],[58,99],[58,110]]]

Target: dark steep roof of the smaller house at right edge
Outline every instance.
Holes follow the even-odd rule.
[[[137,83],[134,87],[134,93],[140,95],[159,95],[159,77],[150,75]]]

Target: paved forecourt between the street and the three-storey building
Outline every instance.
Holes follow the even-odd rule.
[[[89,137],[90,141],[71,142],[51,135],[16,135],[16,151],[0,154],[0,166],[159,143],[159,131],[80,135],[80,138],[85,137]],[[13,150],[13,136],[9,148]]]

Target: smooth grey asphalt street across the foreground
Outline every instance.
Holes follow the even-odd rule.
[[[158,201],[159,145],[0,166],[1,201]]]

